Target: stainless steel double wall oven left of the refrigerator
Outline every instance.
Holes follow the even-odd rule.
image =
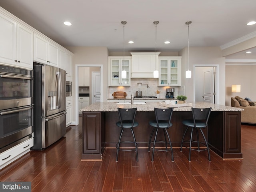
[[[32,137],[33,70],[0,65],[0,153]]]

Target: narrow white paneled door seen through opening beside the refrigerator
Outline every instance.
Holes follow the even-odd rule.
[[[92,72],[92,103],[101,102],[100,72]]]

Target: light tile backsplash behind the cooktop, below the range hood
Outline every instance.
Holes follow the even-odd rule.
[[[138,85],[141,83],[142,86]],[[147,88],[148,84],[148,88]],[[108,98],[113,98],[112,94],[116,91],[124,91],[127,93],[127,98],[130,98],[131,94],[136,96],[136,91],[142,91],[142,96],[156,96],[156,90],[160,91],[159,97],[165,98],[166,88],[174,88],[174,98],[178,95],[185,94],[184,86],[158,86],[158,78],[132,78],[131,86],[117,86],[117,87],[108,87]]]

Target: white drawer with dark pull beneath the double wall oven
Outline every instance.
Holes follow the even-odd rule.
[[[30,151],[34,146],[34,138],[30,138],[0,154],[0,169]]]

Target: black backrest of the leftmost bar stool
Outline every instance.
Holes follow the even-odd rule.
[[[126,109],[117,108],[117,109],[118,109],[121,126],[123,127],[122,122],[130,122],[132,123],[132,127],[133,127],[137,108],[126,108]]]

